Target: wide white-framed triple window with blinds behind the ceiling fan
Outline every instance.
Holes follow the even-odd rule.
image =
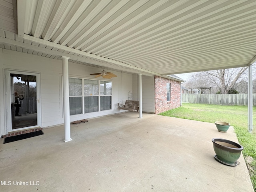
[[[110,110],[112,82],[69,78],[70,115]]]

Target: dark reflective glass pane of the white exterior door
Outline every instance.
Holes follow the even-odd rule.
[[[37,125],[36,76],[11,74],[12,129]]]

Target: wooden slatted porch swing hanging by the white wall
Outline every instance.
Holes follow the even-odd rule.
[[[123,73],[121,72],[121,100],[118,103],[118,109],[128,110],[128,111],[139,111],[140,103],[139,101],[132,100],[132,92],[128,92],[128,100],[123,104]]]

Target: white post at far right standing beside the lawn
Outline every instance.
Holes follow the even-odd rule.
[[[252,133],[252,64],[248,66],[248,131]]]

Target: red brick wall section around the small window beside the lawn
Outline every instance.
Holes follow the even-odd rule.
[[[167,102],[166,84],[171,84],[171,100]],[[180,106],[180,82],[155,76],[155,114]]]

